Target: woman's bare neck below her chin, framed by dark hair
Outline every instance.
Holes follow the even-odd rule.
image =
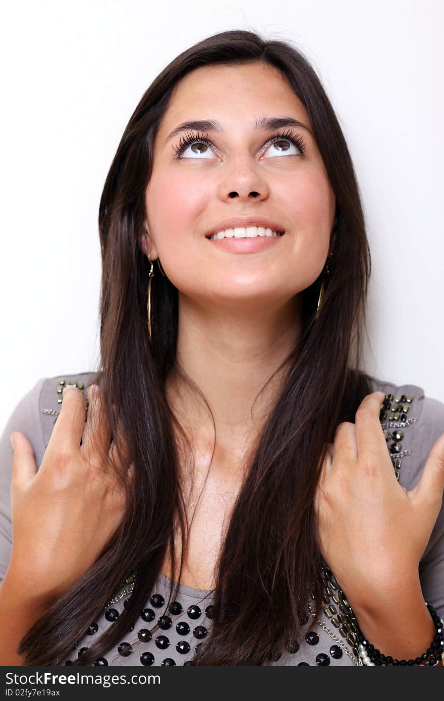
[[[177,374],[168,379],[167,396],[195,446],[205,450],[215,440],[232,463],[254,442],[278,393],[285,371],[278,368],[300,333],[301,303],[297,295],[281,304],[220,309],[179,294],[177,364],[203,393],[215,425]]]

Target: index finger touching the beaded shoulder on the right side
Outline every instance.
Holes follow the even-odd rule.
[[[356,444],[358,458],[365,456],[375,458],[375,454],[388,455],[387,444],[379,421],[379,412],[384,400],[383,392],[372,392],[363,398],[356,411]]]

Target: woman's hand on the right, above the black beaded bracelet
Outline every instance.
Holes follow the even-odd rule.
[[[418,576],[444,490],[444,434],[407,491],[396,479],[379,421],[384,393],[364,397],[356,423],[337,427],[316,491],[321,554],[350,603],[393,597]]]

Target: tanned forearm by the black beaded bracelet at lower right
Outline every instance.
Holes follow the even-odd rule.
[[[393,659],[415,660],[430,647],[436,628],[419,577],[391,592],[368,592],[353,606],[365,638]]]

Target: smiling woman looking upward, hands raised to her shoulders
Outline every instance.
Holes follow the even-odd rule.
[[[100,370],[4,432],[2,663],[439,662],[444,404],[359,369],[363,210],[307,60],[182,53],[99,224]]]

